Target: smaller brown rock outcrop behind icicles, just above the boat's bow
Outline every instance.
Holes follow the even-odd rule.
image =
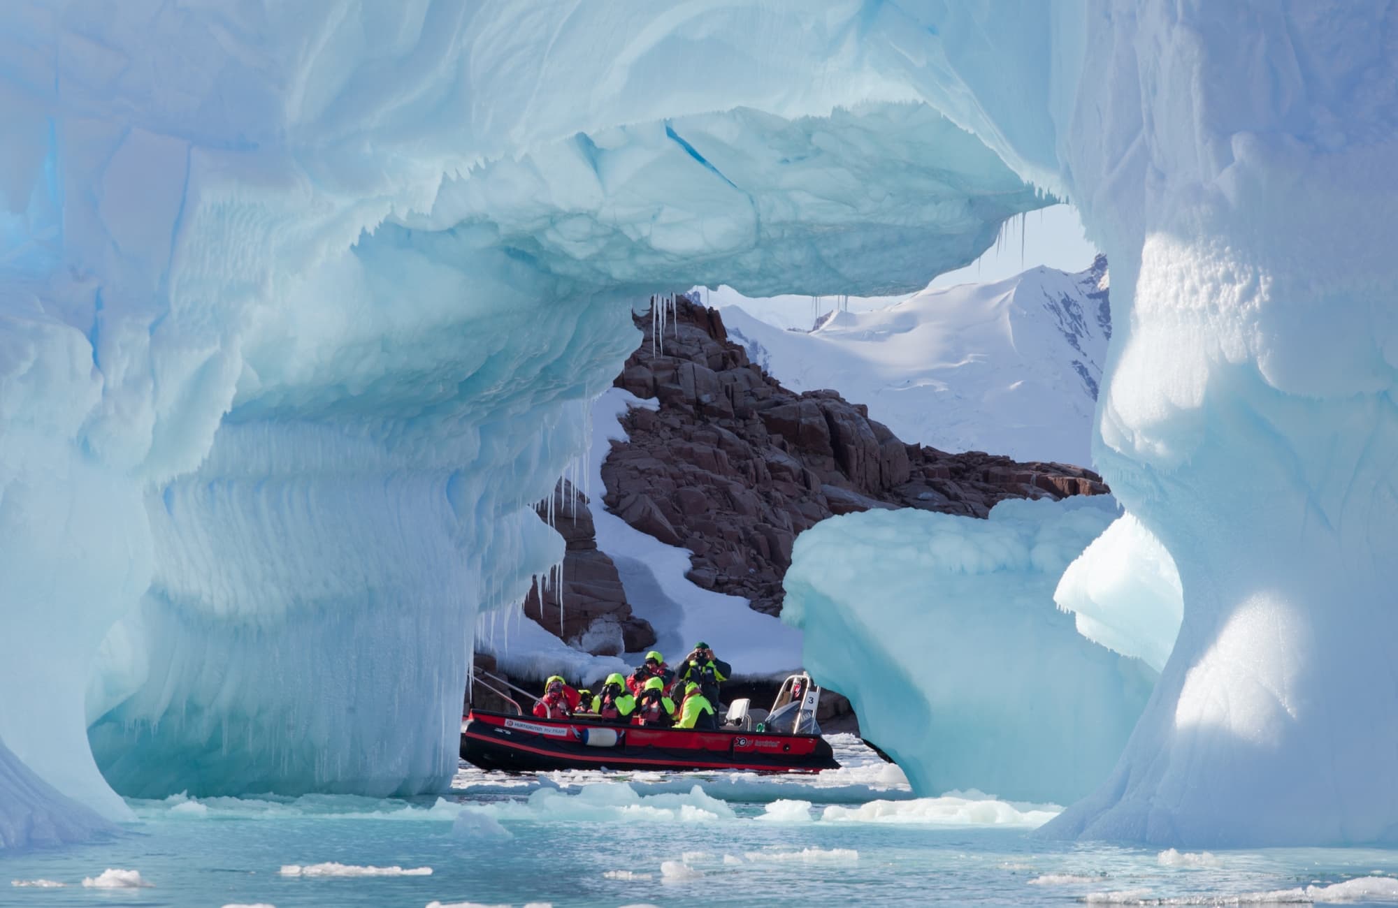
[[[535,510],[548,520],[547,500]],[[630,517],[626,520],[632,521]],[[653,645],[654,629],[650,622],[632,615],[617,566],[597,549],[587,497],[562,479],[554,489],[554,529],[566,543],[562,584],[554,578],[555,583],[547,584],[540,595],[535,581],[524,599],[524,615],[569,645],[593,655],[621,655]],[[674,536],[674,529],[670,532]]]

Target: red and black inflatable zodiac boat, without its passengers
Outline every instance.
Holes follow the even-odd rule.
[[[500,679],[498,683],[505,683]],[[481,683],[478,679],[475,683]],[[519,690],[509,684],[510,689]],[[492,687],[493,690],[493,687]],[[794,696],[793,696],[794,694]],[[783,684],[758,721],[735,700],[717,731],[611,725],[579,714],[541,719],[471,710],[461,719],[461,759],[485,770],[755,770],[818,772],[840,764],[815,724],[821,689],[807,675]],[[754,711],[756,712],[756,711]]]

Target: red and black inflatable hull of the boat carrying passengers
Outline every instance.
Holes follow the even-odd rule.
[[[614,743],[607,742],[615,731]],[[586,743],[591,739],[594,743]],[[755,770],[819,772],[840,764],[819,735],[643,728],[471,711],[461,759],[484,770]]]

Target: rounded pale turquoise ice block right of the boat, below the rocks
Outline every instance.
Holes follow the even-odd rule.
[[[835,517],[797,538],[781,617],[918,795],[1068,803],[1111,770],[1155,683],[1053,603],[1116,517],[1106,496]]]

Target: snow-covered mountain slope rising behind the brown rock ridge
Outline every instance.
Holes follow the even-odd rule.
[[[723,307],[728,335],[795,391],[835,388],[905,441],[1090,464],[1111,320],[1107,260],[927,289],[874,312],[786,331]]]

